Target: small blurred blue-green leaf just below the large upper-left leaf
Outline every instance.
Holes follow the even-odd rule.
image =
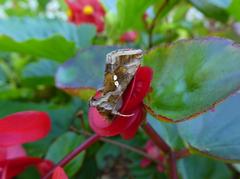
[[[29,63],[23,69],[22,80],[24,84],[54,85],[54,75],[58,66],[59,63],[52,60],[39,60]]]

